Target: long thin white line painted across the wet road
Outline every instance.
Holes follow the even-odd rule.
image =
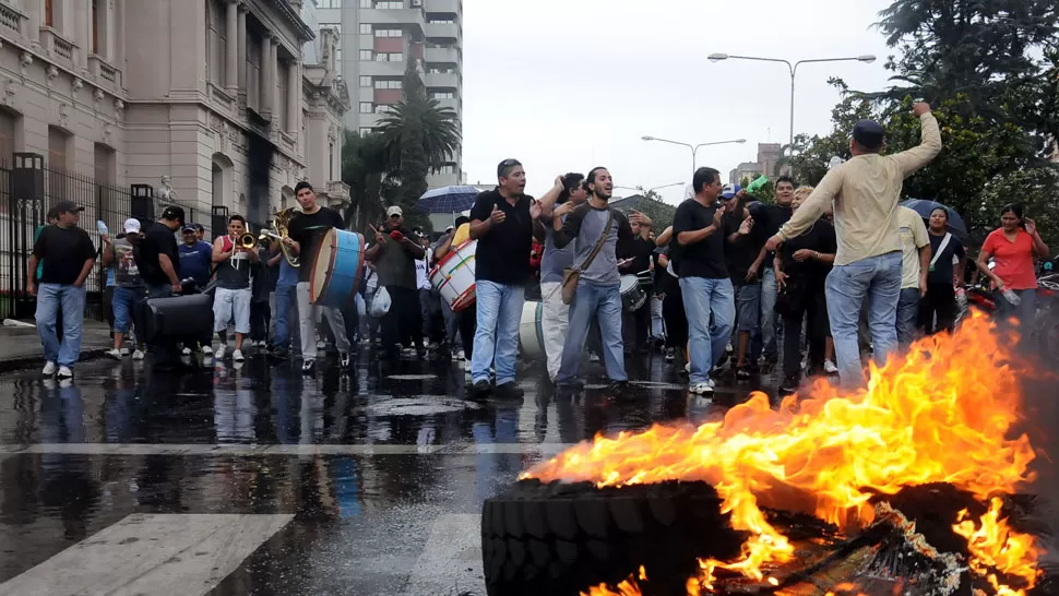
[[[455,443],[447,445],[386,444],[147,444],[147,443],[39,443],[0,445],[0,458],[20,454],[49,455],[540,455],[552,456],[573,446],[569,443]]]

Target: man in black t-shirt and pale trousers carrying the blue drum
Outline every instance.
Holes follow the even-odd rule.
[[[287,226],[287,237],[283,239],[288,248],[298,253],[298,318],[301,323],[301,371],[310,372],[317,363],[317,317],[323,313],[334,334],[335,347],[342,368],[349,368],[349,338],[346,336],[346,321],[342,311],[332,307],[318,307],[309,303],[309,281],[312,278],[313,263],[320,252],[320,242],[333,228],[344,229],[345,224],[338,212],[317,204],[317,193],[312,184],[302,180],[294,188],[295,198],[301,205]]]

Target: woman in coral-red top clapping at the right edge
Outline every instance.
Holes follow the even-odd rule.
[[[995,229],[981,245],[978,271],[992,279],[1000,314],[1019,321],[1033,321],[1037,312],[1037,276],[1034,257],[1048,258],[1048,245],[1037,234],[1033,219],[1022,216],[1022,205],[1009,204],[1000,210],[1000,229]],[[996,261],[989,269],[989,259]],[[1009,300],[1011,290],[1016,300]],[[1015,302],[1015,303],[1013,303]]]

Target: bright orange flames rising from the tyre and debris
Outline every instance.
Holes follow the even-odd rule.
[[[597,437],[522,478],[599,487],[709,482],[731,526],[750,538],[736,561],[700,561],[689,594],[712,589],[716,570],[761,581],[769,563],[793,553],[762,505],[798,503],[822,520],[856,527],[872,521],[874,493],[949,482],[986,502],[1031,480],[1028,439],[1008,437],[1020,406],[1018,374],[1001,348],[1009,339],[986,318],[973,317],[953,336],[924,338],[904,358],[872,366],[865,390],[843,393],[821,381],[810,397],[789,396],[777,410],[755,393],[722,421]],[[973,543],[972,569],[995,568],[1033,585],[1039,551],[1032,540],[1008,532],[995,514],[957,527]],[[995,586],[1000,594],[1011,589],[998,581]]]

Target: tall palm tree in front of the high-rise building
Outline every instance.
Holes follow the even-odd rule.
[[[386,144],[390,168],[398,182],[397,203],[404,208],[409,226],[430,231],[430,220],[415,208],[427,191],[427,176],[438,171],[460,147],[456,115],[427,96],[418,71],[419,63],[408,61],[403,81],[403,99],[380,122]]]

